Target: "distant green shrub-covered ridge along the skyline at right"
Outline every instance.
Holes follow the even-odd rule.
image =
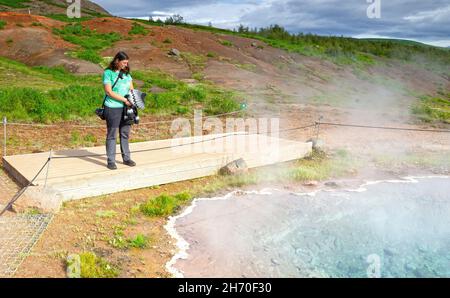
[[[155,26],[165,25],[161,21],[137,19],[136,21]],[[337,64],[373,64],[375,58],[414,62],[417,56],[434,61],[436,63],[435,66],[442,64],[445,66],[450,64],[450,51],[447,49],[427,46],[414,41],[356,39],[343,36],[319,36],[303,33],[291,34],[278,25],[253,30],[240,26],[234,31],[186,23],[171,23],[170,25],[182,26],[193,30],[204,30],[218,34],[254,38],[276,48],[306,56],[329,59]]]

